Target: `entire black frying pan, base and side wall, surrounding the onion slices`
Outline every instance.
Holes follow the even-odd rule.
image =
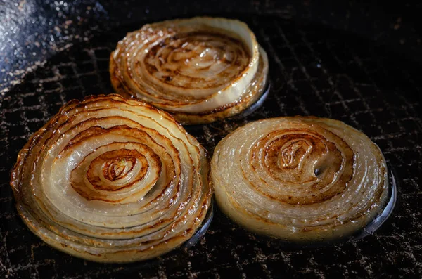
[[[0,0],[0,278],[421,278],[421,4],[407,1]],[[18,150],[60,105],[111,92],[108,56],[146,22],[220,15],[247,22],[269,54],[271,91],[241,119],[188,128],[212,155],[246,122],[282,115],[340,119],[376,142],[399,179],[392,216],[374,235],[286,248],[215,210],[189,250],[129,265],[51,249],[14,208]]]

